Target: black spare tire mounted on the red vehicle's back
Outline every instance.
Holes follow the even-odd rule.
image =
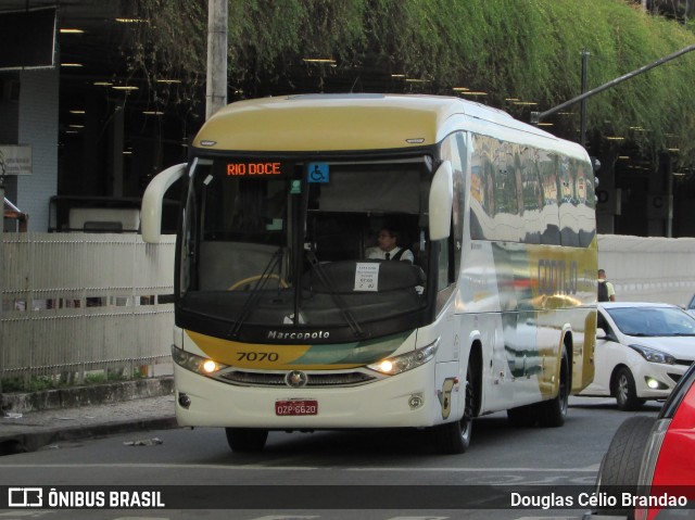
[[[654,417],[631,417],[620,424],[601,461],[596,480],[598,493],[615,496],[617,504],[622,503],[621,493],[636,494],[642,456],[655,422]],[[634,510],[604,508],[596,512],[631,518]]]

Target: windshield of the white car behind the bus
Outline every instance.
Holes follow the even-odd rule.
[[[615,307],[606,310],[623,334],[695,335],[695,318],[678,307]]]

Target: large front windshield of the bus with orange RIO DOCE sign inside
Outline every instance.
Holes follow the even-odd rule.
[[[177,313],[203,333],[208,322],[227,338],[255,341],[289,342],[317,328],[333,341],[415,328],[427,301],[421,215],[431,175],[427,156],[194,160]],[[383,228],[414,262],[372,257]]]

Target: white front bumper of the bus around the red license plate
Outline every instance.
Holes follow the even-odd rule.
[[[434,364],[353,388],[249,388],[216,381],[174,367],[176,418],[180,426],[313,430],[432,426],[441,405],[434,388]],[[184,407],[185,393],[190,406]],[[413,406],[414,396],[420,398]],[[277,416],[280,399],[316,399],[313,416]]]

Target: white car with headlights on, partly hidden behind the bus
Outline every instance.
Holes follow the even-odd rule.
[[[614,396],[622,410],[665,399],[695,360],[695,318],[675,305],[598,304],[594,381],[580,395]]]

